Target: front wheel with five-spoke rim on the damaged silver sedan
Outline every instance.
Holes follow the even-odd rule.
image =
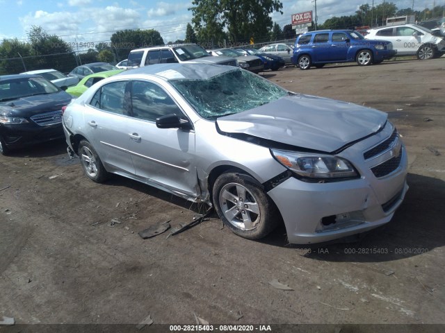
[[[261,239],[280,221],[261,184],[245,173],[223,173],[212,189],[213,205],[227,227],[246,239]]]

